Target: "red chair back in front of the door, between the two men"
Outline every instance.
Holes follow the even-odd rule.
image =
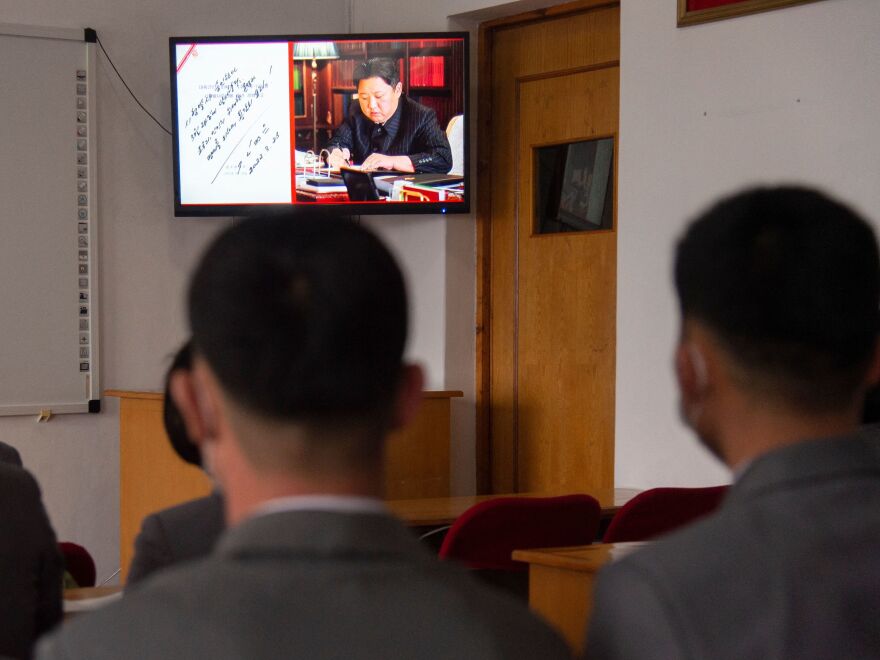
[[[510,558],[514,550],[592,543],[600,511],[589,495],[486,500],[456,519],[439,554],[470,568],[525,571],[526,564]]]

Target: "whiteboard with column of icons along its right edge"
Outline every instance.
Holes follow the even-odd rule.
[[[90,32],[0,24],[0,415],[100,410]]]

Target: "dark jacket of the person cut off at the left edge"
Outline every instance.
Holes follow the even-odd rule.
[[[0,656],[29,657],[61,620],[62,560],[29,472],[0,463]]]

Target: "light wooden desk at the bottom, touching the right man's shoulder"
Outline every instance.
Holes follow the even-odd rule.
[[[593,609],[596,573],[606,563],[645,543],[597,543],[574,548],[516,550],[529,564],[529,607],[565,638],[576,655],[583,652]]]

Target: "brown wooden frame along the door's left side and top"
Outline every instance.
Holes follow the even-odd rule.
[[[476,488],[478,494],[492,490],[491,417],[491,252],[492,252],[492,69],[494,35],[499,28],[554,20],[584,10],[619,7],[620,0],[575,0],[544,9],[505,16],[479,25],[477,37],[477,256],[476,256]],[[617,163],[615,162],[615,169]],[[616,193],[615,193],[616,194]]]

